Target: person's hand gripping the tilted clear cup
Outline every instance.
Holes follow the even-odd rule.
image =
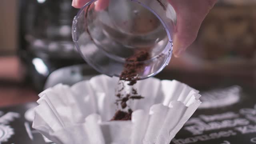
[[[81,8],[89,0],[73,0],[72,6]],[[179,57],[197,37],[202,21],[217,0],[168,0],[177,14],[177,24],[173,35],[173,54]],[[96,10],[108,6],[109,0],[98,0]]]

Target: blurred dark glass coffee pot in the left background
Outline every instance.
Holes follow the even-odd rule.
[[[85,63],[74,47],[72,0],[20,0],[20,48],[27,80],[38,91],[55,70]]]

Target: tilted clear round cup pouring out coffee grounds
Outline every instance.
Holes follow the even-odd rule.
[[[93,68],[120,76],[127,58],[147,51],[138,63],[139,79],[158,74],[170,61],[176,12],[167,0],[91,0],[74,17],[72,37],[78,51]],[[129,63],[129,62],[128,62]]]

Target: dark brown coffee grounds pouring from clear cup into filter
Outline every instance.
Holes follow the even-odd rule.
[[[133,86],[137,83],[137,80],[140,80],[138,77],[138,74],[143,72],[145,64],[143,61],[148,60],[150,54],[149,52],[145,50],[141,50],[131,56],[130,58],[126,59],[126,64],[124,64],[124,70],[122,71],[120,75],[120,82],[118,84],[122,84],[122,87],[120,90],[118,90],[118,93],[116,94],[116,97],[118,98],[115,102],[115,104],[120,105],[122,109],[129,108],[128,112],[118,110],[116,111],[115,115],[111,120],[131,120],[132,118],[132,110],[127,105],[128,100],[140,100],[144,98],[143,96],[140,96],[136,89],[132,88],[132,92],[130,94],[122,94],[122,91],[125,89],[124,82],[121,82],[121,80],[124,80],[128,82],[128,86]]]

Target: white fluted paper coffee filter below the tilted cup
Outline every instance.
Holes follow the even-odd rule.
[[[186,84],[148,78],[134,85],[145,98],[128,101],[132,120],[109,121],[117,84],[118,78],[100,75],[45,90],[33,128],[56,144],[169,144],[201,103],[198,90]]]

